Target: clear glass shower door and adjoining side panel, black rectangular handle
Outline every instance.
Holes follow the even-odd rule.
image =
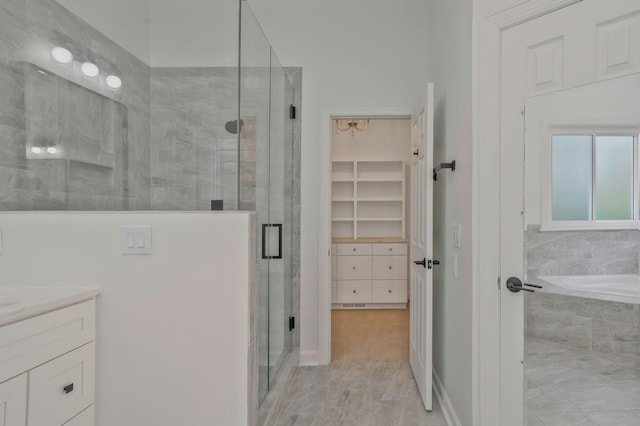
[[[258,398],[291,349],[293,88],[246,2],[241,2],[240,208],[257,215]],[[245,150],[245,147],[247,148]]]

